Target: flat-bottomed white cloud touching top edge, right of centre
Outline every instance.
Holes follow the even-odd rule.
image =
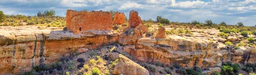
[[[203,1],[185,1],[185,2],[177,2],[172,0],[171,7],[179,7],[179,8],[202,8],[206,6],[208,3]]]

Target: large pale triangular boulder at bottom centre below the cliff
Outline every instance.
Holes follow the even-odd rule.
[[[125,74],[125,75],[136,75],[143,74],[149,75],[150,73],[144,67],[133,62],[129,58],[119,54],[119,61],[113,70],[113,74]]]

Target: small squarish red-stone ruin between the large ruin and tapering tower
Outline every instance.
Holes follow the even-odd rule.
[[[123,13],[115,12],[113,24],[123,24],[125,22],[125,15]]]

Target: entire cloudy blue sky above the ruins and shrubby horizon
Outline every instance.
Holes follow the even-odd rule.
[[[143,20],[162,16],[170,21],[256,24],[256,0],[0,0],[5,14],[34,16],[38,11],[53,9],[58,16],[66,16],[67,9],[119,11],[129,16],[134,9]]]

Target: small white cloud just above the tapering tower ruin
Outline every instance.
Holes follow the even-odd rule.
[[[139,9],[143,6],[134,2],[124,3],[118,10],[127,10],[127,9]]]

